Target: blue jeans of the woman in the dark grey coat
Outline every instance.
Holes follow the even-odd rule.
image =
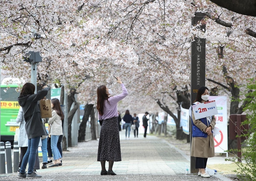
[[[35,165],[35,157],[37,154],[40,139],[41,139],[41,136],[31,138],[28,140],[27,152],[23,157],[21,167],[20,167],[21,174],[24,174],[26,172],[27,162],[29,163],[29,169],[27,170],[27,173],[28,174],[33,173],[34,165]]]

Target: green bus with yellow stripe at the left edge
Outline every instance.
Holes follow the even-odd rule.
[[[17,97],[20,92],[16,91],[17,84],[3,85],[1,84],[1,141],[14,141],[16,128],[20,124],[16,123],[16,118],[20,109]]]

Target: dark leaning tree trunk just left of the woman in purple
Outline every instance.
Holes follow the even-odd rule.
[[[78,131],[78,142],[85,141],[86,123],[91,114],[91,109],[93,109],[93,104],[87,104],[84,107],[84,116],[82,118],[82,122],[79,126],[79,131]]]

